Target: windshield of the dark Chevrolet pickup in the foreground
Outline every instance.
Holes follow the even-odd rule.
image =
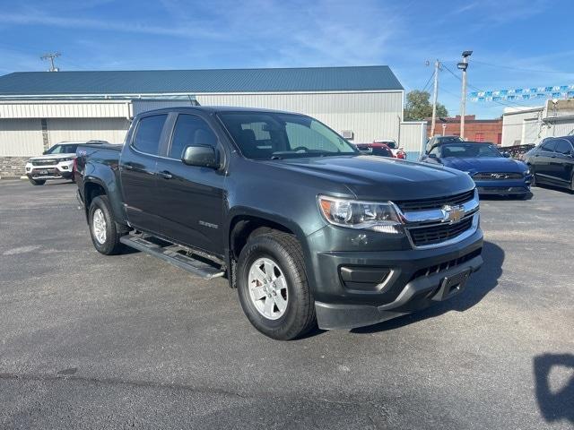
[[[291,159],[359,153],[351,143],[317,120],[273,112],[219,114],[248,159]]]

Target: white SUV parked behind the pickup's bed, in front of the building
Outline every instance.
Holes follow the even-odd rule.
[[[44,155],[32,157],[26,162],[26,176],[32,185],[44,185],[49,179],[72,179],[74,181],[75,150],[82,143],[108,143],[105,141],[59,142]]]

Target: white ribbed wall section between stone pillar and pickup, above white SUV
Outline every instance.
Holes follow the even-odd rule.
[[[99,139],[110,143],[124,142],[129,121],[125,118],[49,118],[50,146],[63,141]]]

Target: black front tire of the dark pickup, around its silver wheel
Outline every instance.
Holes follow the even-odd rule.
[[[275,320],[260,314],[250,297],[248,271],[259,258],[273,260],[287,282],[287,306],[284,314]],[[239,254],[237,268],[239,302],[258,331],[275,340],[293,340],[317,326],[315,301],[309,291],[303,252],[294,236],[275,230],[250,236]]]

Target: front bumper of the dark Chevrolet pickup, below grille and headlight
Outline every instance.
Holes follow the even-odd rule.
[[[452,297],[483,264],[482,246],[479,228],[464,241],[428,250],[320,253],[314,273],[318,326],[326,330],[362,327]],[[361,290],[356,286],[368,284],[344,281],[342,269],[347,268],[386,270],[388,275],[373,288]]]

